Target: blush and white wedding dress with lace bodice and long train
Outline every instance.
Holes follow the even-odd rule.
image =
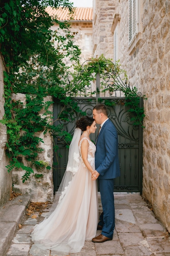
[[[88,161],[95,170],[95,145],[84,137],[79,142],[79,152],[84,139],[88,140]],[[77,172],[65,187],[57,207],[51,215],[35,225],[31,234],[33,243],[41,249],[65,253],[80,252],[85,240],[96,235],[98,223],[97,182],[82,157]]]

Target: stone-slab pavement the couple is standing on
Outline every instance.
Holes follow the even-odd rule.
[[[55,207],[44,204],[41,211],[26,211],[9,249],[3,256],[57,256],[36,247],[30,238],[33,226],[41,222]],[[32,213],[31,213],[32,211]],[[102,205],[99,196],[99,212]],[[30,213],[30,214],[29,214]],[[27,215],[29,214],[29,215]],[[97,231],[97,235],[100,231]],[[113,240],[104,243],[86,241],[82,251],[69,256],[170,256],[170,237],[155,218],[152,209],[138,193],[115,193],[115,231]],[[63,254],[66,256],[66,254]]]

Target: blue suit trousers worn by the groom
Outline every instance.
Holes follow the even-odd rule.
[[[99,225],[103,227],[102,235],[112,238],[115,229],[114,179],[99,179],[99,187],[103,208]]]

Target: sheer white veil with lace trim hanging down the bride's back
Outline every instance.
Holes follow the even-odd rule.
[[[81,137],[82,130],[80,128],[75,128],[73,139],[71,141],[69,152],[68,152],[68,163],[66,171],[62,178],[62,182],[56,193],[58,203],[61,202],[62,198],[66,194],[68,186],[71,184],[71,180],[75,173],[77,173],[80,164],[80,153],[79,153],[79,139]]]

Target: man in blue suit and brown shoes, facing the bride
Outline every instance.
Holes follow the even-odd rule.
[[[120,176],[117,131],[107,117],[107,109],[103,104],[93,108],[93,118],[101,128],[96,139],[95,168],[92,180],[99,177],[99,187],[103,212],[97,229],[102,234],[92,239],[94,243],[103,243],[113,239],[115,228],[114,179]]]

